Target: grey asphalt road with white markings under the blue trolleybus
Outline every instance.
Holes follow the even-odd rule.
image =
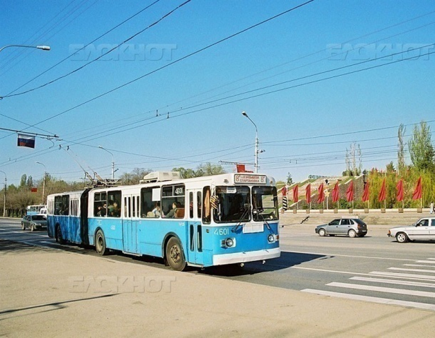
[[[213,267],[187,273],[208,274],[331,297],[435,310],[435,242],[400,244],[386,227],[364,238],[319,237],[313,226],[281,228],[281,257],[243,268]],[[19,220],[0,219],[0,238],[98,256],[93,249],[59,245],[46,231],[21,230]],[[160,259],[113,253],[108,260],[168,269]]]

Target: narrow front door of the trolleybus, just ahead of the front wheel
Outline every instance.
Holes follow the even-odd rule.
[[[188,189],[189,201],[189,261],[195,264],[204,264],[203,234],[202,234],[202,192],[201,189]]]

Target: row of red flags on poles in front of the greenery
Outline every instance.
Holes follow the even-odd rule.
[[[368,182],[365,184],[364,186],[364,192],[362,193],[362,201],[368,201],[368,197],[369,197],[369,192],[368,192],[368,188],[369,188],[369,184]],[[399,180],[399,182],[397,183],[397,200],[398,201],[403,201],[403,180]],[[319,185],[318,187],[318,196],[317,196],[317,203],[322,203],[325,199],[325,192],[324,192],[324,187],[323,187],[323,183]],[[332,202],[337,202],[339,199],[339,187],[338,187],[338,182],[335,183],[334,188],[332,189]],[[412,199],[413,200],[418,200],[421,199],[421,193],[422,193],[422,188],[421,188],[421,177],[419,177],[418,181],[417,181],[417,185],[416,188],[414,189],[414,193],[412,194]],[[287,194],[287,189],[286,189],[286,194]],[[311,203],[311,184],[308,184],[307,187],[305,188],[305,198],[307,200],[307,203]],[[386,198],[386,186],[385,186],[385,178],[382,181],[382,186],[381,186],[381,191],[379,192],[379,202],[385,200]],[[346,189],[346,200],[347,202],[351,202],[354,200],[354,181],[352,180],[351,183],[349,184],[349,186]],[[293,187],[293,201],[296,203],[299,201],[299,186],[296,184]]]

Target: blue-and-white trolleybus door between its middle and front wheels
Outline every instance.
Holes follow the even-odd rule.
[[[138,254],[139,195],[124,195],[122,235],[124,251]]]

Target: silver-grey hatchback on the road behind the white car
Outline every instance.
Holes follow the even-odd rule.
[[[349,237],[364,237],[367,234],[367,224],[359,218],[336,218],[328,224],[315,228],[319,236],[347,235]]]

